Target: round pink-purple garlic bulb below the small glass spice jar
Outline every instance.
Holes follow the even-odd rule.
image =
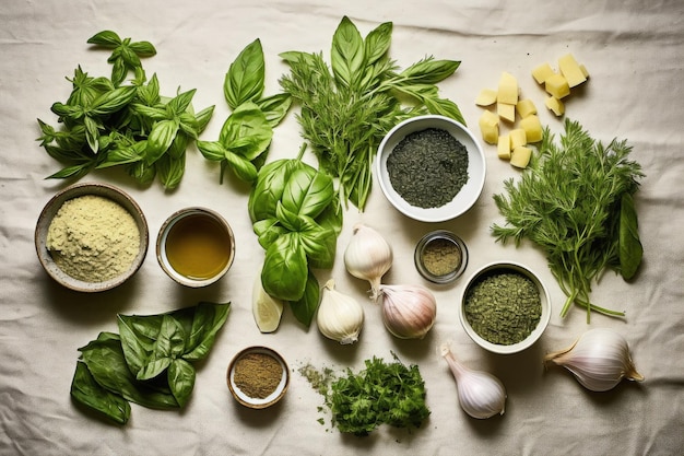
[[[422,339],[435,324],[437,301],[420,285],[380,285],[382,323],[400,339]]]

